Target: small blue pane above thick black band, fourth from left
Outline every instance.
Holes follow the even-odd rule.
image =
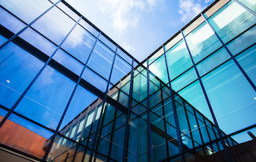
[[[82,78],[102,92],[106,91],[108,82],[89,68],[85,68],[84,74],[82,74]]]

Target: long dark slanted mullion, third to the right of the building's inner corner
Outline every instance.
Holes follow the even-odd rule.
[[[203,14],[202,14],[202,15],[203,15]],[[210,109],[210,114],[212,115],[212,119],[213,119],[214,124],[215,124],[215,126],[216,126],[216,128],[217,128],[218,134],[220,134],[220,140],[221,140],[222,146],[223,146],[223,148],[224,148],[224,154],[225,154],[225,156],[226,156],[228,162],[232,162],[232,159],[231,159],[231,157],[230,157],[230,153],[228,152],[228,148],[226,148],[225,142],[224,142],[224,140],[223,140],[222,132],[221,132],[221,130],[220,130],[220,127],[218,126],[218,122],[217,122],[216,117],[215,117],[215,115],[214,115],[214,112],[213,112],[213,110],[212,110],[212,106],[210,105],[210,100],[208,99],[208,95],[207,95],[207,92],[206,92],[206,90],[205,90],[205,86],[203,86],[203,82],[202,82],[202,80],[201,80],[201,77],[200,77],[200,75],[199,75],[199,72],[198,72],[198,70],[197,70],[197,67],[195,66],[195,62],[194,62],[194,60],[193,60],[193,57],[192,57],[192,55],[191,55],[191,52],[190,52],[190,50],[189,50],[189,47],[187,46],[187,41],[185,40],[185,36],[184,36],[183,32],[182,32],[181,30],[180,30],[180,32],[181,32],[181,35],[183,36],[183,40],[185,41],[185,45],[186,45],[186,47],[187,47],[187,51],[188,51],[188,53],[189,53],[189,57],[190,57],[190,59],[191,59],[191,61],[192,61],[192,63],[193,63],[193,67],[195,68],[195,72],[197,73],[197,78],[198,78],[199,83],[200,83],[200,85],[201,85],[201,88],[202,88],[202,90],[203,90],[203,94],[205,95],[205,99],[207,100],[207,105],[208,105],[208,107],[209,107],[209,109]]]

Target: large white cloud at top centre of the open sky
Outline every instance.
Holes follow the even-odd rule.
[[[151,11],[158,4],[156,0],[100,0],[98,10],[110,17],[114,30],[122,33],[139,24],[140,11]]]

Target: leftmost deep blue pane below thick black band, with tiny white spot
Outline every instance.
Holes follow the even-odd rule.
[[[0,104],[11,109],[44,63],[14,43],[0,51]]]

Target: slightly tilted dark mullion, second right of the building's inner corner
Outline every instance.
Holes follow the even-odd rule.
[[[163,45],[164,48],[164,45]],[[169,82],[169,86],[170,86],[170,94],[172,97],[172,109],[174,111],[174,121],[175,121],[175,125],[176,125],[176,135],[177,135],[177,142],[178,142],[178,146],[179,146],[179,157],[181,159],[181,162],[184,162],[184,156],[183,156],[183,151],[182,151],[182,142],[181,142],[181,136],[179,134],[179,124],[177,121],[177,112],[176,112],[176,106],[175,106],[175,100],[174,100],[174,93],[172,92],[172,84],[170,81],[170,74],[169,74],[169,69],[168,69],[168,63],[167,63],[167,59],[166,59],[166,50],[164,49],[164,59],[166,62],[166,70],[167,70],[167,75],[168,75],[168,82]]]

